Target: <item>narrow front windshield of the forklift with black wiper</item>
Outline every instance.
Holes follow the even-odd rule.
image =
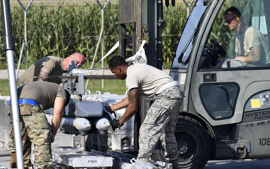
[[[188,68],[188,58],[190,57],[191,49],[193,47],[193,40],[196,39],[197,28],[200,25],[200,21],[207,7],[208,6],[204,6],[204,2],[201,0],[195,2],[178,41],[172,68]]]

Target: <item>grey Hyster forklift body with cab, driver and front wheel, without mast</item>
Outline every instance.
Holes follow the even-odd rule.
[[[226,17],[230,7],[241,16]],[[269,8],[268,0],[195,2],[170,70],[185,95],[175,134],[181,168],[202,168],[209,159],[270,158]],[[185,129],[187,122],[207,136],[191,132],[193,124]]]

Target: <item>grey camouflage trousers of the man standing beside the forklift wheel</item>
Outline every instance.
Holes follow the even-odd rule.
[[[167,160],[178,158],[174,131],[182,100],[183,91],[179,86],[172,86],[160,94],[155,94],[154,103],[147,111],[139,131],[138,159],[151,159],[159,139],[165,149],[165,158]]]

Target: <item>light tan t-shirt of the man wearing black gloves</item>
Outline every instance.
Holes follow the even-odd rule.
[[[137,63],[128,66],[126,87],[128,90],[139,87],[139,92],[149,98],[154,98],[154,94],[162,85],[174,81],[167,73],[150,65]]]

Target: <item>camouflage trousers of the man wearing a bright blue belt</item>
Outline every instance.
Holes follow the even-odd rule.
[[[20,128],[23,147],[24,167],[31,167],[31,143],[35,145],[35,163],[38,168],[50,168],[52,165],[51,131],[44,111],[41,107],[31,104],[20,104]],[[11,106],[9,106],[11,116]],[[9,151],[15,152],[12,120],[10,122]],[[13,159],[16,162],[16,159]],[[12,161],[10,162],[12,164]]]

